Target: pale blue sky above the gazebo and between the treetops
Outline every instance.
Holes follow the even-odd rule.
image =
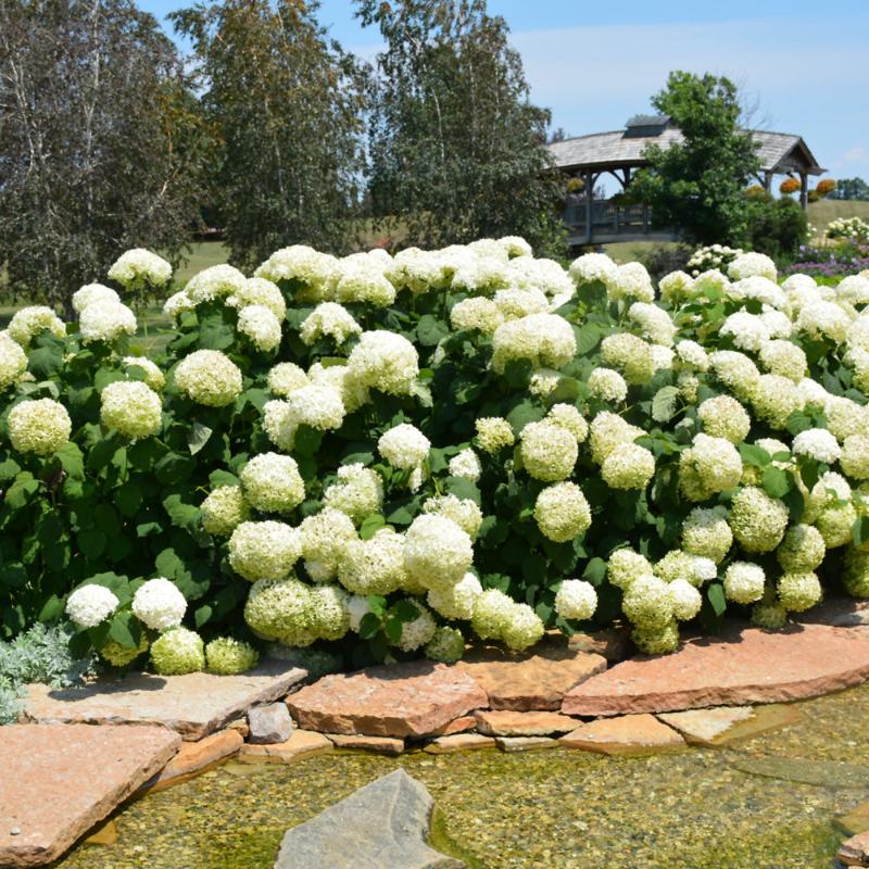
[[[162,18],[184,0],[140,0]],[[490,0],[511,26],[534,102],[570,135],[620,128],[670,70],[734,79],[765,129],[804,137],[833,177],[869,179],[867,0]],[[371,56],[375,30],[348,0],[319,18],[347,49]]]

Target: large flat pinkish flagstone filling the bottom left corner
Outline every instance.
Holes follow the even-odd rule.
[[[161,727],[2,728],[0,866],[42,866],[59,857],[160,770],[180,743]]]

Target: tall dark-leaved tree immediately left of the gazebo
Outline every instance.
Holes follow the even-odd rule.
[[[386,42],[371,83],[375,214],[398,218],[413,244],[521,235],[556,249],[550,113],[530,102],[504,20],[484,0],[360,0],[358,16]]]

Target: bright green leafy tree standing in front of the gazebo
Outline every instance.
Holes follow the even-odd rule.
[[[656,224],[680,229],[689,241],[742,242],[748,219],[743,191],[759,161],[752,134],[740,127],[736,86],[673,72],[652,104],[672,118],[683,141],[645,149],[651,165],[632,181],[633,197],[652,206]]]

